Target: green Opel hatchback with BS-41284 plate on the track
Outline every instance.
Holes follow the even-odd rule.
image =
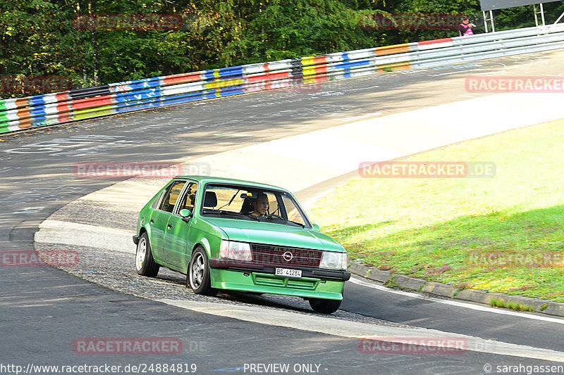
[[[219,289],[295,295],[336,312],[350,279],[345,248],[311,224],[288,191],[218,177],[176,177],[142,208],[135,267],[186,274],[197,294]]]

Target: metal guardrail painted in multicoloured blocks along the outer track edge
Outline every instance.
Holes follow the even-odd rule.
[[[0,99],[0,133],[378,72],[564,48],[564,25],[528,27]]]

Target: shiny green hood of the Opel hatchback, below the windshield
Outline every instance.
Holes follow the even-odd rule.
[[[314,248],[329,251],[345,251],[343,246],[331,237],[315,231],[296,227],[292,224],[255,222],[250,220],[202,217],[202,220],[221,229],[232,241],[266,243],[275,246]]]

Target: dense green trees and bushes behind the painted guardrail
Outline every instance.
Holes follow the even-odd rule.
[[[553,23],[564,4],[547,3],[545,11]],[[375,14],[465,14],[482,25],[479,0],[10,0],[0,2],[0,12],[3,97],[48,91],[13,86],[28,77],[68,77],[85,87],[458,34],[385,30],[366,22]],[[79,15],[149,13],[181,17],[182,27],[112,30],[77,22]],[[534,25],[532,6],[495,17],[498,30]]]

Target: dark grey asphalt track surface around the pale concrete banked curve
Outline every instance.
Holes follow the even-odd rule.
[[[75,163],[197,158],[342,125],[359,115],[399,113],[476,97],[464,89],[467,75],[547,74],[564,74],[564,52],[386,73],[329,82],[302,92],[234,96],[3,136],[0,250],[32,250],[40,222],[66,203],[121,181],[78,179],[73,174]],[[305,201],[327,184],[345,182],[348,177],[296,194]],[[100,212],[99,220],[114,219]],[[317,319],[317,314],[301,300],[245,293],[204,298],[185,289],[183,277],[172,272],[161,272],[155,280],[137,277],[127,253],[104,252],[96,243],[92,248],[71,250],[90,254],[88,267],[79,267],[73,274],[51,267],[0,267],[0,374],[16,373],[14,367],[2,367],[8,364],[22,366],[21,371],[31,374],[54,371],[33,371],[29,364],[114,364],[123,369],[127,364],[168,363],[182,364],[190,371],[190,365],[196,364],[197,374],[280,372],[277,367],[259,371],[267,368],[257,364],[289,364],[290,374],[487,374],[504,365],[522,365],[522,373],[527,373],[527,366],[564,364],[564,319],[558,317],[455,305],[426,295],[386,291],[355,278],[345,287],[341,310],[333,317],[319,317],[326,319],[328,332],[350,324],[416,327],[444,332],[445,337],[458,333],[491,340],[494,346],[510,343],[536,349],[529,352],[559,352],[560,356],[547,355],[558,362],[542,360],[542,355],[520,355],[505,347],[438,354],[363,352],[358,338],[307,329],[312,324],[308,319]],[[226,310],[248,307],[265,317],[285,317],[289,312],[300,322],[279,326],[265,318],[264,324],[257,324],[228,313],[208,314],[154,301],[165,298],[193,301],[202,305],[202,311],[206,303],[223,303]],[[424,335],[425,331],[420,332]],[[73,350],[78,338],[155,337],[180,338],[183,351],[84,355]]]

